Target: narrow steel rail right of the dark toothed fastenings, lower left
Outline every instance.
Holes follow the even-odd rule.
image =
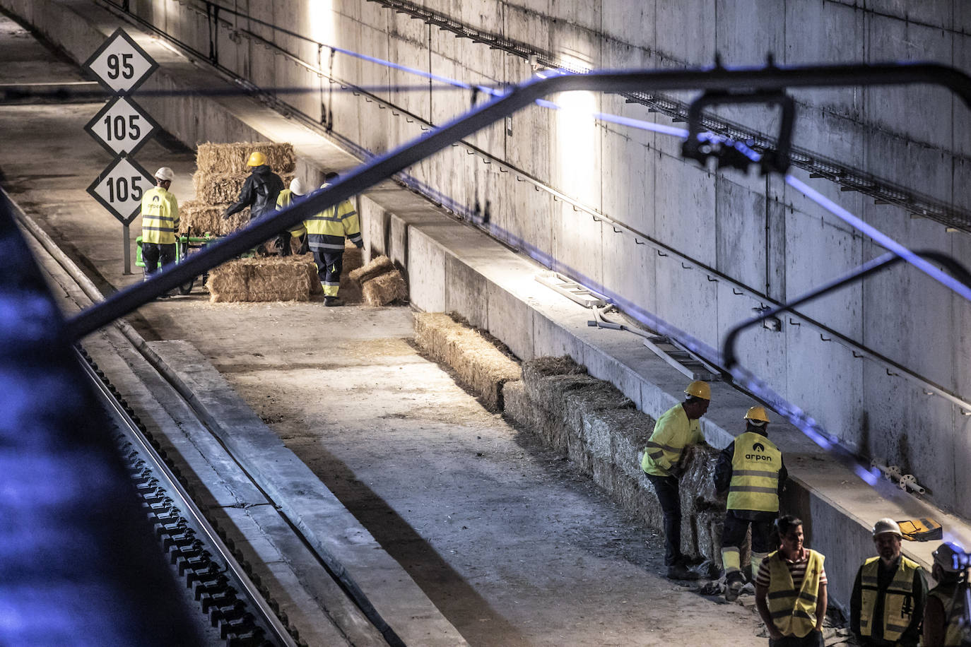
[[[112,415],[116,418],[119,426],[122,427],[122,434],[124,434],[129,442],[135,445],[139,454],[151,465],[152,475],[170,493],[170,498],[173,501],[177,501],[177,507],[179,507],[182,514],[187,517],[187,520],[191,524],[190,528],[196,534],[201,534],[204,537],[206,547],[216,552],[215,557],[225,566],[226,572],[231,576],[233,583],[240,586],[242,593],[258,611],[260,620],[262,621],[260,624],[269,630],[267,639],[274,645],[297,647],[296,641],[286,631],[280,618],[277,617],[277,614],[274,613],[273,609],[270,608],[270,605],[256,589],[249,575],[243,570],[243,566],[240,566],[232,552],[219,538],[216,530],[210,525],[202,510],[192,501],[192,497],[185,491],[183,484],[179,482],[179,478],[172,472],[172,469],[168,467],[162,457],[158,455],[155,448],[151,446],[148,438],[141,433],[138,425],[136,425],[135,421],[132,420],[131,416],[124,410],[121,404],[118,403],[117,398],[108,389],[100,376],[94,372],[93,367],[84,360],[81,351],[77,348],[74,350],[78,363],[94,384],[102,402],[111,407]]]

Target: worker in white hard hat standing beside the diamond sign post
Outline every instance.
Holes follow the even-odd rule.
[[[155,186],[142,196],[142,261],[145,280],[176,262],[179,201],[169,191],[176,175],[167,166],[155,171]],[[168,296],[168,295],[163,295]]]

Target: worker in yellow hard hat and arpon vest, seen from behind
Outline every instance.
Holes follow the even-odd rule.
[[[779,516],[779,498],[786,487],[783,453],[769,440],[769,416],[762,406],[745,414],[745,433],[725,447],[715,468],[715,489],[728,491],[721,564],[725,569],[725,599],[738,598],[745,586],[741,548],[752,527],[752,580],[772,545],[772,524]]]

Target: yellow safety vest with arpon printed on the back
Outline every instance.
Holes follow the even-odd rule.
[[[782,467],[783,453],[767,437],[746,432],[735,438],[728,509],[778,512]]]

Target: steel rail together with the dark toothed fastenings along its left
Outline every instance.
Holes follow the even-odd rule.
[[[264,599],[244,564],[192,501],[177,468],[166,464],[135,411],[84,349],[79,359],[117,424],[120,454],[142,498],[162,550],[227,645],[296,647],[298,642]]]

